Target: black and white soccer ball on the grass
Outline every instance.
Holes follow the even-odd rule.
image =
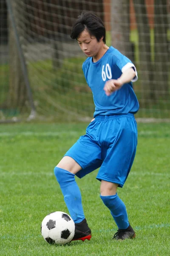
[[[65,212],[51,212],[42,221],[41,234],[49,244],[67,244],[74,237],[75,224]]]

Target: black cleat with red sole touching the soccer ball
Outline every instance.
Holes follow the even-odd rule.
[[[91,239],[91,230],[88,227],[86,219],[84,219],[79,223],[75,223],[75,234],[74,234],[74,238],[71,241],[75,241],[75,240],[85,241],[85,239],[88,239],[88,240]]]

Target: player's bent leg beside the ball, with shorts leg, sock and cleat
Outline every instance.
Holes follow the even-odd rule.
[[[90,132],[93,126],[94,124],[91,123],[87,131]],[[81,193],[75,181],[75,174],[83,177],[99,168],[101,164],[102,156],[99,145],[85,135],[79,138],[54,168],[54,174],[61,187],[68,211],[75,222],[76,232],[73,240],[91,238],[91,230],[85,220]]]

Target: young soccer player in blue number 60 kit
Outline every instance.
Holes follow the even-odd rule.
[[[82,12],[71,38],[88,57],[82,70],[91,88],[95,112],[86,134],[66,152],[54,168],[65,204],[75,222],[73,240],[91,239],[75,175],[82,178],[99,168],[100,198],[111,211],[118,231],[113,239],[132,239],[125,204],[116,193],[123,187],[136,154],[137,126],[134,114],[139,103],[132,82],[138,79],[133,63],[105,44],[105,26],[92,12]]]

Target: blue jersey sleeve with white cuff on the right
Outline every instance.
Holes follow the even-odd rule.
[[[125,55],[120,54],[119,56],[116,56],[115,64],[117,67],[119,67],[119,69],[122,71],[122,73],[124,73],[126,70],[128,70],[130,67],[132,67],[136,73],[136,76],[131,81],[135,82],[138,80],[138,73],[137,73],[135,65]]]

